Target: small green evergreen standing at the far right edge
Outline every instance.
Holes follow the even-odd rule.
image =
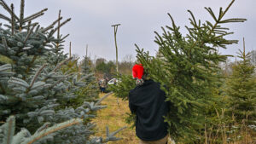
[[[230,112],[236,121],[241,124],[245,120],[247,124],[256,123],[256,81],[254,75],[255,66],[250,61],[251,53],[239,50],[239,58],[233,72],[227,80],[227,95],[230,97]]]

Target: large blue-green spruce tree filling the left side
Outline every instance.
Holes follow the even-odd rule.
[[[0,5],[11,15],[0,15],[0,19],[7,21],[7,24],[0,24],[0,55],[11,61],[5,60],[0,64],[0,121],[15,115],[16,129],[22,132],[22,135],[17,135],[24,138],[27,136],[23,135],[23,128],[36,134],[44,123],[56,124],[54,129],[59,131],[54,139],[49,138],[50,141],[44,143],[81,144],[118,140],[113,136],[115,133],[108,135],[106,140],[101,137],[90,139],[94,124],[86,119],[94,117],[92,112],[104,108],[100,106],[99,101],[102,100],[83,101],[75,108],[67,105],[68,101],[78,97],[80,89],[89,85],[85,80],[93,78],[91,73],[80,74],[78,68],[73,69],[76,61],[63,53],[61,43],[68,35],[54,36],[71,19],[61,22],[62,17],[59,17],[49,26],[42,27],[32,20],[43,15],[47,9],[25,17],[25,1],[20,0],[18,17],[13,4],[9,7],[0,0]],[[59,25],[55,26],[57,23]],[[65,69],[65,66],[69,68]],[[61,130],[61,123],[73,118],[82,118],[84,122]],[[72,124],[72,121],[67,124]],[[11,129],[14,131],[13,127]],[[4,139],[1,137],[0,141]]]

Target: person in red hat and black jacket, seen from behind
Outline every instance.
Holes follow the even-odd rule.
[[[160,84],[147,78],[142,65],[132,68],[137,86],[129,93],[129,107],[135,113],[136,135],[140,144],[167,144],[167,123],[164,116],[168,112],[166,94]]]

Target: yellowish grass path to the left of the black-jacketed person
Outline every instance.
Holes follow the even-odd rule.
[[[104,94],[101,94],[102,97]],[[119,105],[117,98],[113,95],[109,95],[107,99],[102,101],[102,105],[108,107],[97,112],[97,117],[93,121],[96,123],[96,135],[106,136],[106,125],[110,132],[118,130],[124,126],[127,126],[125,130],[122,130],[117,134],[118,137],[123,138],[120,141],[108,142],[109,144],[137,144],[138,138],[135,135],[135,129],[131,130],[130,125],[125,123],[125,112],[130,112],[127,101],[119,99]]]

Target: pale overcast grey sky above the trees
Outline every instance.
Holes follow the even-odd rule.
[[[6,3],[15,3],[15,11],[20,9],[20,0],[5,0]],[[136,55],[134,43],[149,51],[151,55],[158,49],[154,43],[154,31],[161,32],[160,26],[171,24],[167,13],[172,14],[178,26],[189,25],[190,9],[195,17],[201,20],[211,20],[211,16],[204,7],[211,7],[218,12],[219,7],[226,8],[231,0],[26,0],[25,15],[38,12],[41,9],[49,10],[39,18],[43,26],[49,25],[57,18],[58,11],[65,18],[72,18],[61,33],[67,37],[65,51],[68,52],[68,43],[73,43],[73,54],[85,55],[85,46],[89,44],[91,58],[102,57],[115,60],[113,27],[120,23],[117,41],[119,60],[125,55]],[[245,23],[228,25],[235,34],[232,39],[240,40],[238,44],[228,49],[220,49],[223,54],[236,55],[237,49],[242,48],[242,37],[246,39],[247,50],[256,49],[256,0],[236,0],[226,18],[246,18]],[[3,10],[2,8],[0,9]]]

